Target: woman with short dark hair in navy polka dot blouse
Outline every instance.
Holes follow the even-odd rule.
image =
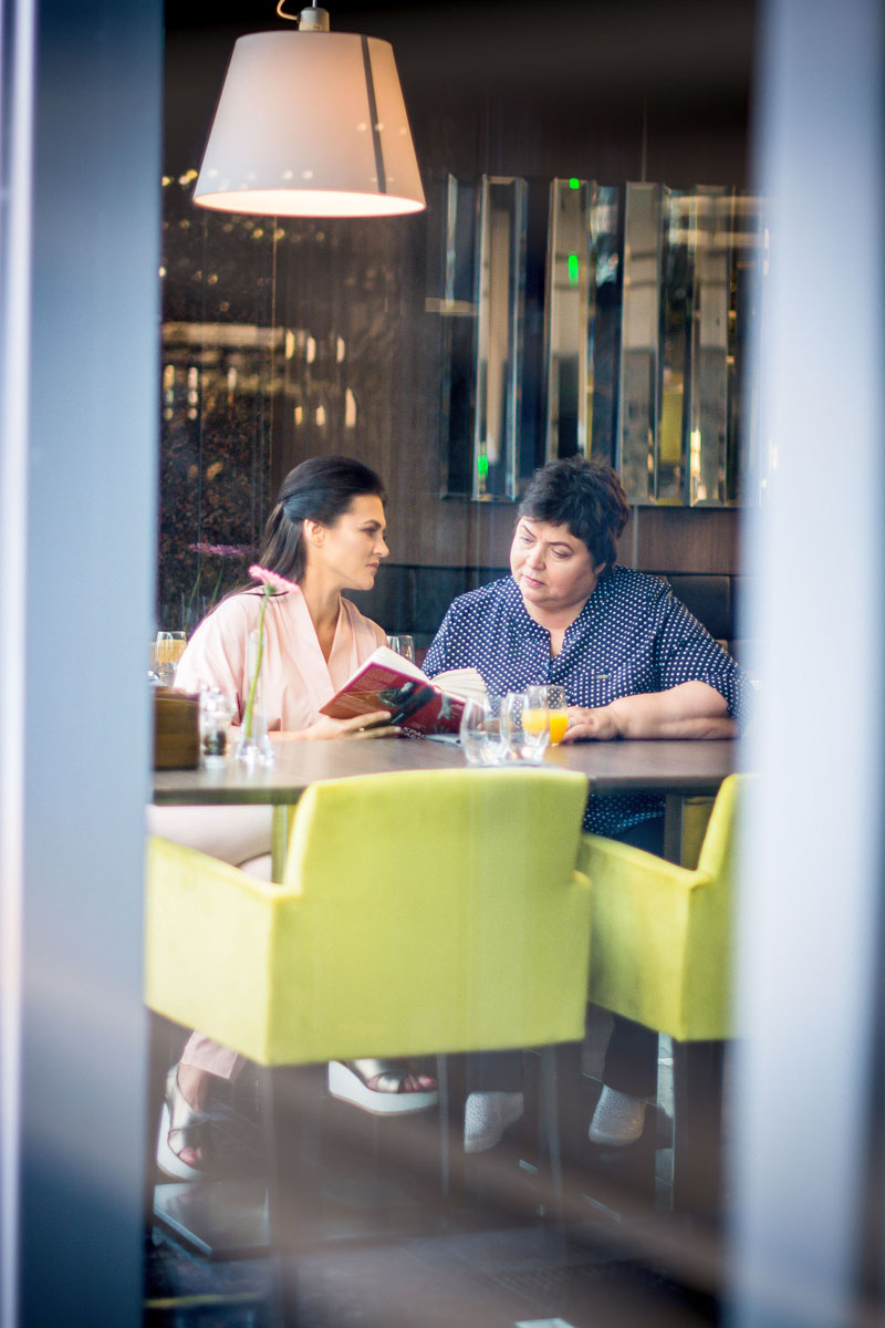
[[[568,701],[565,742],[732,737],[747,680],[665,582],[617,564],[628,518],[610,466],[569,457],[536,471],[519,507],[511,575],[454,602],[425,672],[474,665],[491,693],[557,683]],[[592,797],[584,825],[659,854],[663,798]],[[616,1020],[594,1143],[640,1137],[655,1053],[657,1035]],[[492,1147],[521,1116],[520,1066],[512,1053],[480,1058],[484,1088],[467,1100],[467,1151]]]

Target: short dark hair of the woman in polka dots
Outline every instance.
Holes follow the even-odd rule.
[[[630,509],[617,470],[577,456],[549,461],[536,470],[519,514],[551,526],[568,526],[586,544],[593,566],[604,563],[609,571],[617,562],[617,540]]]

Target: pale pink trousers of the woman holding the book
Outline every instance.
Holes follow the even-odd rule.
[[[260,806],[147,809],[149,834],[199,849],[259,880],[271,879],[271,807]],[[245,1057],[203,1033],[191,1033],[180,1062],[232,1080],[243,1069]]]

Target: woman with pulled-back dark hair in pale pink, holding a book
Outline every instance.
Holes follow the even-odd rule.
[[[261,679],[268,732],[280,740],[381,737],[386,710],[333,720],[320,706],[385,644],[385,633],[344,598],[370,590],[387,556],[383,486],[360,461],[314,457],[283,481],[271,513],[260,566],[295,583],[267,602]],[[234,591],[206,618],[187,644],[178,687],[216,687],[236,699],[241,718],[249,689],[247,641],[257,627],[263,590]],[[269,876],[269,807],[151,807],[149,830],[200,849],[253,875]],[[206,1114],[211,1077],[234,1078],[243,1057],[192,1033],[169,1072],[158,1162],[184,1179],[206,1166]],[[437,1102],[433,1078],[402,1062],[357,1060],[329,1066],[329,1089],[379,1114],[423,1110]]]

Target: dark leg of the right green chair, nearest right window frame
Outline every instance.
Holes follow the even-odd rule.
[[[722,1210],[724,1042],[673,1042],[673,1208]]]

